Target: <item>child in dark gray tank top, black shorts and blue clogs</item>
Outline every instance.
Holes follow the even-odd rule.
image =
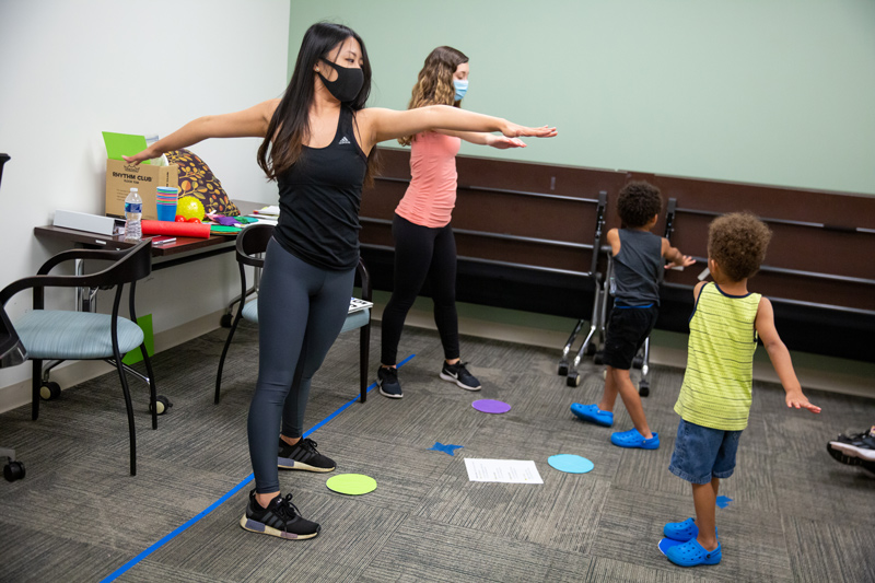
[[[571,405],[571,412],[580,419],[611,427],[614,405],[619,395],[634,424],[629,431],[610,435],[610,442],[620,447],[660,447],[660,436],[648,425],[641,397],[629,377],[629,369],[656,324],[660,283],[665,267],[686,267],[696,263],[673,247],[667,238],[650,232],[660,218],[661,209],[662,197],[655,186],[634,182],[620,190],[617,212],[622,229],[611,229],[607,235],[614,257],[617,291],[605,340],[605,389],[598,404]],[[666,260],[669,264],[663,267]]]

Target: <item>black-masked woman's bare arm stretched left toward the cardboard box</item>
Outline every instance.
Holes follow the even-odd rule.
[[[199,117],[139,154],[122,158],[125,162],[139,164],[143,160],[159,158],[164,152],[187,148],[207,138],[264,138],[278,104],[279,100],[270,100],[233,114]]]

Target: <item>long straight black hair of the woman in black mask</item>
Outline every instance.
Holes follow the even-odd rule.
[[[364,82],[355,98],[349,104],[343,104],[342,107],[349,106],[353,112],[364,108],[364,104],[371,95],[371,61],[368,59],[364,40],[349,26],[317,22],[304,34],[292,79],[270,119],[265,141],[258,148],[258,165],[269,179],[276,180],[300,159],[302,145],[310,139],[310,106],[314,97],[313,77],[316,74],[313,68],[322,59],[332,61],[329,55],[331,49],[349,37],[358,40],[359,46],[362,47]],[[365,186],[373,183],[375,173],[376,145],[368,155]]]

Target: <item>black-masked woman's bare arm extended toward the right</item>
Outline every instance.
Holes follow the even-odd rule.
[[[362,150],[370,152],[375,143],[412,136],[422,131],[453,130],[491,132],[500,131],[509,138],[534,136],[552,138],[556,128],[518,126],[500,117],[466,112],[450,105],[430,105],[404,112],[373,107],[357,115],[362,128]]]

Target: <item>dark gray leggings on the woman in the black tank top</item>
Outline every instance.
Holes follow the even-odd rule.
[[[258,383],[247,431],[255,491],[280,489],[277,443],[300,438],[313,374],[343,327],[355,269],[312,266],[268,243],[258,290]]]

